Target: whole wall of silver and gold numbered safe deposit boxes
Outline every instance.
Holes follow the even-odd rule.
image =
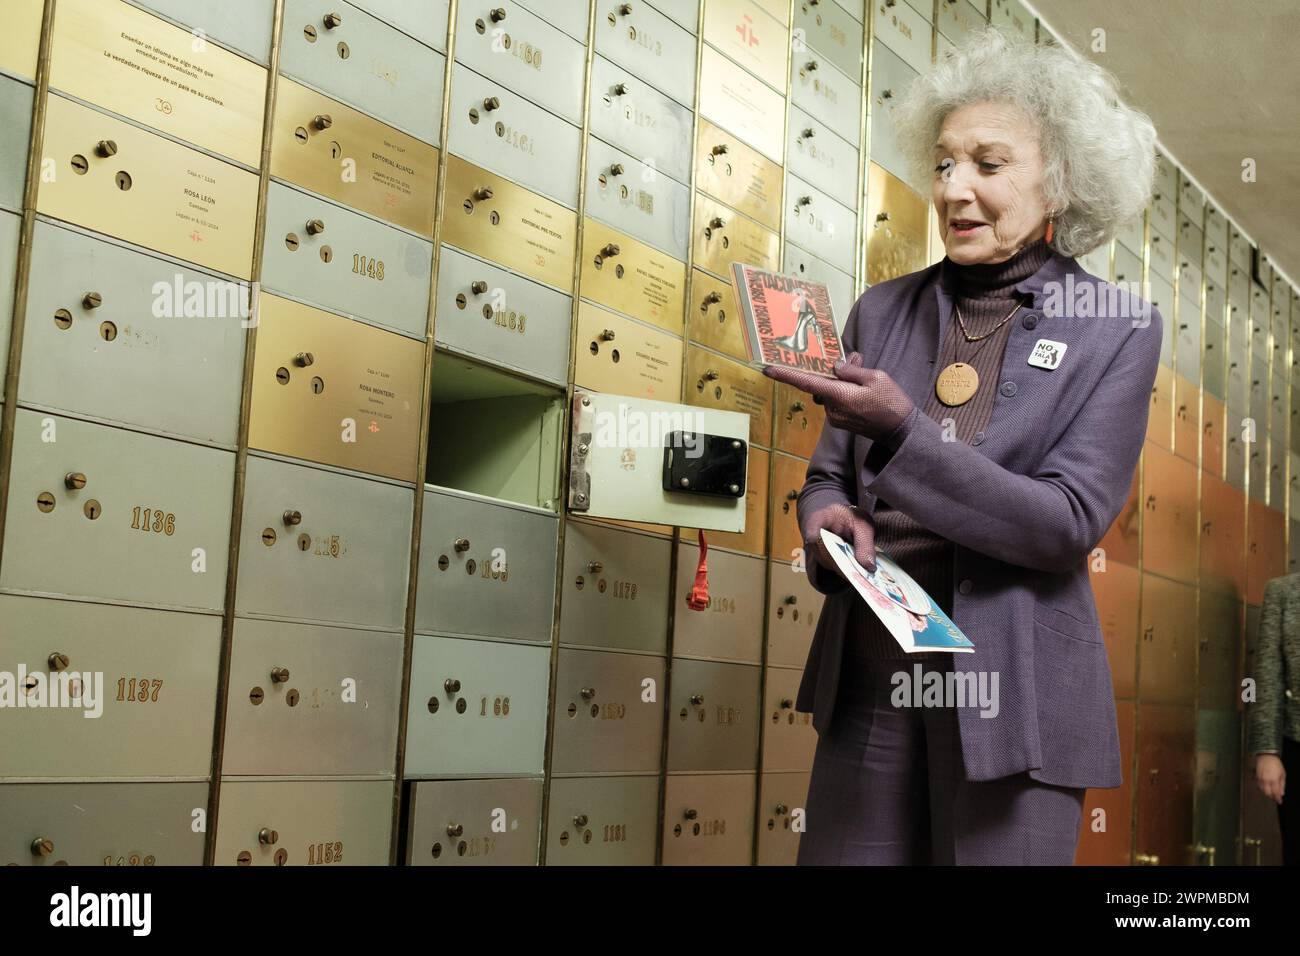
[[[746,365],[728,265],[826,282],[842,324],[936,261],[890,105],[987,18],[1045,27],[1014,0],[5,8],[0,666],[25,701],[103,685],[94,719],[3,710],[0,858],[792,862],[823,418]],[[1130,779],[1080,860],[1262,861],[1234,687],[1287,567],[1296,291],[1167,161],[1087,267],[1149,278],[1167,349],[1095,564]],[[745,442],[742,494],[598,447],[628,410]]]

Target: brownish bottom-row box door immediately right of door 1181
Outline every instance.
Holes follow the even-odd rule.
[[[757,774],[668,774],[663,865],[748,866],[757,787]]]

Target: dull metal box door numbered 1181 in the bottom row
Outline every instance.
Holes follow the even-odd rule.
[[[659,778],[551,780],[549,866],[653,866],[659,840]]]

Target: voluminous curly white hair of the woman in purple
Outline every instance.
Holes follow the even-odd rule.
[[[1052,246],[1080,256],[1141,215],[1156,172],[1156,127],[1119,99],[1114,75],[1065,47],[975,34],[918,77],[894,108],[900,144],[918,182],[935,176],[944,118],[972,103],[1011,103],[1039,130],[1043,190],[1056,211]]]

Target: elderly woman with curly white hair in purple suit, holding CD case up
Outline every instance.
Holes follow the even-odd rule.
[[[1158,312],[1075,256],[1143,211],[1154,130],[1101,68],[994,31],[918,78],[897,122],[946,256],[863,293],[835,378],[766,369],[827,410],[798,498],[827,594],[797,702],[819,734],[798,862],[1070,864],[1086,788],[1123,780],[1087,562],[1161,345]],[[823,528],[867,568],[880,546],[975,652],[902,652]],[[954,674],[997,706],[898,693]]]

